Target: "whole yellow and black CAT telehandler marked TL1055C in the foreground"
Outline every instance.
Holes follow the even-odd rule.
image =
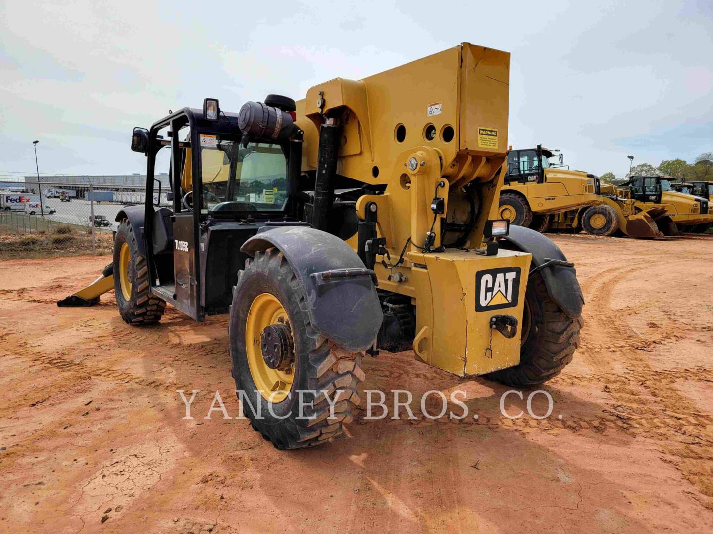
[[[297,102],[209,98],[135,128],[146,204],[119,212],[113,263],[59,305],[113,288],[128,328],[167,303],[228,314],[243,409],[278,449],[341,434],[380,349],[518,387],[555,377],[583,298],[552,241],[498,218],[509,73],[508,53],[463,43]],[[151,203],[162,187],[170,209]]]

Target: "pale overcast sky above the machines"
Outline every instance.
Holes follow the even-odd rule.
[[[512,53],[508,141],[573,168],[713,150],[713,3],[0,1],[0,171],[145,172],[133,126],[302,98],[461,41]],[[196,5],[200,4],[200,9]],[[543,7],[546,6],[546,7]],[[0,178],[2,179],[2,178]]]

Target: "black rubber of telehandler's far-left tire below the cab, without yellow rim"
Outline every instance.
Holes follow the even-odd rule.
[[[125,298],[121,286],[120,252],[128,244],[130,259],[127,275],[131,283],[129,298]],[[146,258],[138,253],[136,236],[128,219],[123,219],[114,236],[114,293],[119,314],[130,325],[153,325],[158,323],[166,308],[162,298],[149,293],[148,265]]]

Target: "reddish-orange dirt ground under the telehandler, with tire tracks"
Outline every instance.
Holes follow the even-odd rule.
[[[508,419],[505,387],[382,352],[367,389],[464,389],[478,419],[361,413],[297,452],[202,419],[216,390],[237,415],[225,316],[133,328],[113,295],[56,307],[108,256],[0,262],[0,531],[713,531],[713,236],[555,241],[587,303],[550,417]],[[195,419],[177,389],[200,390]]]

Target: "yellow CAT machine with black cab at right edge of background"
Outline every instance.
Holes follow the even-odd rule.
[[[670,176],[632,176],[617,187],[617,194],[635,200],[642,210],[664,206],[666,214],[656,219],[656,224],[667,236],[679,234],[679,226],[689,229],[713,220],[707,198],[677,192],[672,182]]]

